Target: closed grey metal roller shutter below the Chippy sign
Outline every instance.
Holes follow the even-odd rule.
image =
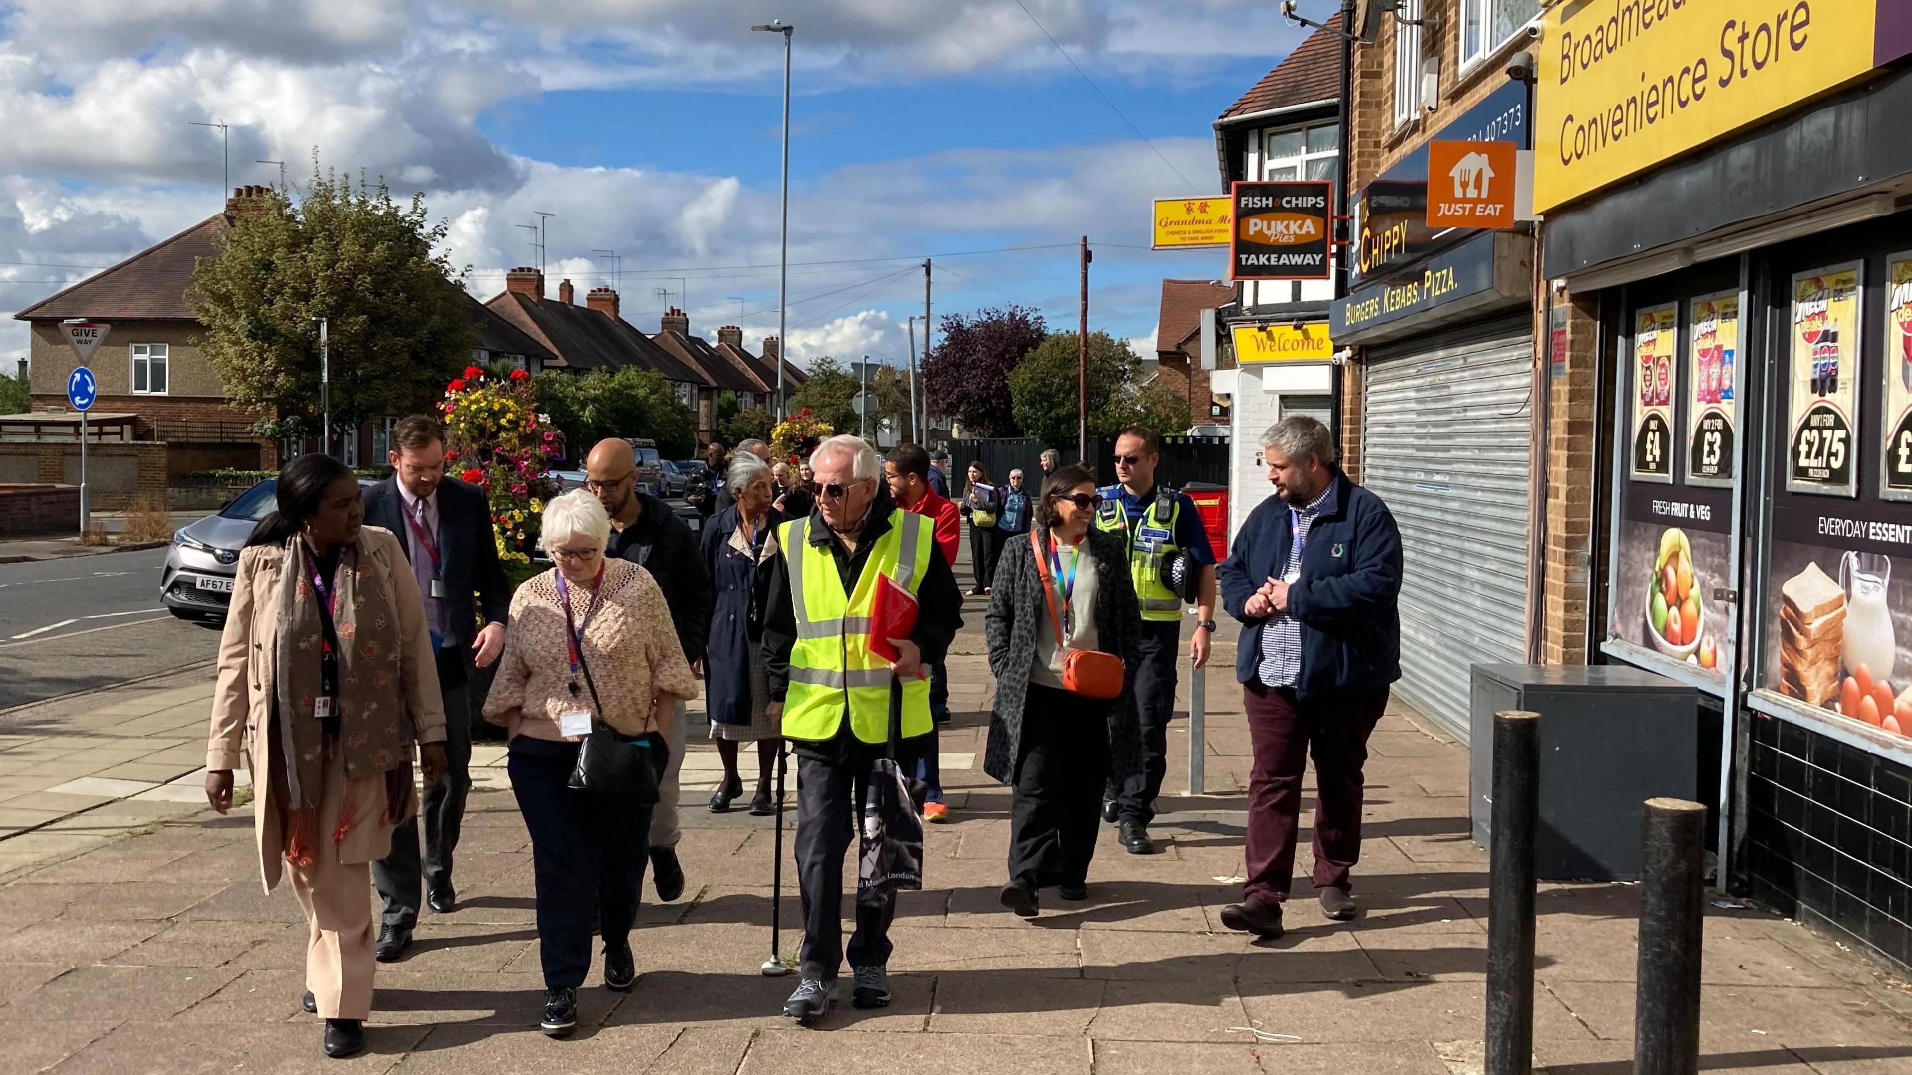
[[[1367,369],[1361,484],[1401,528],[1401,698],[1467,742],[1468,666],[1524,664],[1533,344]]]

